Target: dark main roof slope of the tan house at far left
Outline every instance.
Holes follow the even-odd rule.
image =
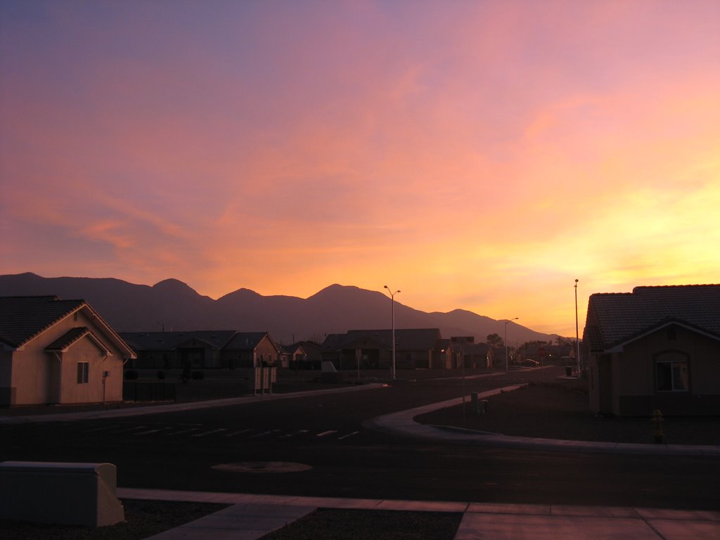
[[[56,296],[0,297],[0,341],[20,347],[84,305]]]

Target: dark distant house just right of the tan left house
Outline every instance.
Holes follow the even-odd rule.
[[[138,354],[133,367],[205,369],[275,366],[279,348],[267,332],[202,330],[120,334]]]

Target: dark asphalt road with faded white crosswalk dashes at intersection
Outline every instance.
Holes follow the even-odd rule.
[[[122,487],[717,510],[712,457],[428,444],[363,427],[377,415],[534,378],[539,372],[398,382],[182,413],[0,426],[0,461],[110,462]],[[268,462],[307,470],[271,472]],[[213,468],[248,463],[251,472]]]

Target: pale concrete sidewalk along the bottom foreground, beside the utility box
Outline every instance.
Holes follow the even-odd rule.
[[[412,500],[284,497],[118,488],[126,499],[232,504],[147,540],[257,540],[315,508],[462,512],[455,540],[701,540],[720,538],[720,512],[612,506],[513,505]]]

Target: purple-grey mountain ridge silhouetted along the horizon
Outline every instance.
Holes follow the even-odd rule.
[[[390,297],[377,291],[330,285],[311,297],[262,296],[249,289],[212,300],[177,279],[152,287],[113,278],[0,276],[0,296],[56,294],[90,302],[118,332],[160,330],[268,331],[279,343],[323,341],[325,334],[390,328]],[[505,321],[465,310],[424,312],[395,302],[395,328],[439,328],[444,338],[505,337]],[[557,336],[508,323],[508,342],[550,341]]]

